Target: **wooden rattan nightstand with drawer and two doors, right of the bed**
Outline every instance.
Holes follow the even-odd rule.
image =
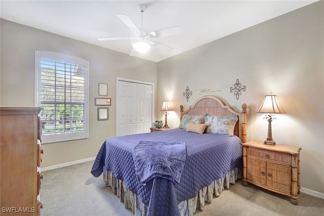
[[[276,144],[264,145],[251,140],[243,146],[242,185],[248,182],[261,188],[291,197],[291,203],[298,204],[299,147]]]

